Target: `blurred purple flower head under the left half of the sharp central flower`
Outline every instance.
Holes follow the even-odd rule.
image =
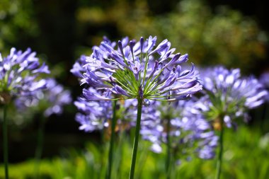
[[[88,93],[98,94],[94,88],[84,89]],[[120,100],[119,100],[120,101]],[[79,113],[76,114],[76,121],[80,123],[79,129],[85,132],[93,132],[94,130],[101,130],[109,127],[110,120],[113,117],[113,109],[111,100],[86,100],[85,98],[78,98],[74,102]],[[135,124],[135,105],[136,100],[125,100],[122,105],[117,105],[117,126],[119,129],[129,129]],[[124,115],[121,115],[124,114]]]

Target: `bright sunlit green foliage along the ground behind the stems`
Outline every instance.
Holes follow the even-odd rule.
[[[235,137],[236,136],[236,137]],[[224,135],[224,162],[222,178],[269,177],[269,136],[258,129],[239,127],[237,131],[227,129]],[[142,142],[137,161],[137,178],[166,178],[165,157],[148,150],[147,142]],[[127,178],[132,152],[130,139],[118,142],[113,161],[112,178]],[[104,178],[108,145],[88,143],[84,150],[67,149],[62,158],[45,159],[41,163],[42,178]],[[214,178],[215,160],[204,161],[194,158],[176,166],[175,178]],[[0,168],[0,178],[4,178],[4,167]],[[10,167],[11,178],[34,178],[34,162],[25,161]]]

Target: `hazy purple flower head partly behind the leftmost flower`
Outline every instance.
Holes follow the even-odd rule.
[[[62,114],[64,105],[71,103],[71,93],[57,83],[55,79],[46,79],[47,88],[42,91],[35,91],[32,96],[21,96],[16,99],[15,104],[18,110],[26,110],[29,107],[38,107],[44,110],[45,117],[52,114]]]

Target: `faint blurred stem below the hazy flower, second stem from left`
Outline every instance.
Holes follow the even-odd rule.
[[[43,151],[44,130],[45,130],[45,117],[42,115],[38,126],[38,141],[37,141],[38,144],[35,149],[35,178],[39,178],[40,160]]]

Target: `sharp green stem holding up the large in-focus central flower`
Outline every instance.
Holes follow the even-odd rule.
[[[138,102],[137,123],[135,127],[135,141],[134,141],[134,146],[132,148],[132,164],[131,164],[129,179],[133,179],[135,175],[135,161],[137,158],[137,146],[138,146],[138,141],[139,141],[139,131],[140,131],[141,114],[142,114],[142,101],[143,101],[142,98],[140,97],[137,98],[137,102]]]

